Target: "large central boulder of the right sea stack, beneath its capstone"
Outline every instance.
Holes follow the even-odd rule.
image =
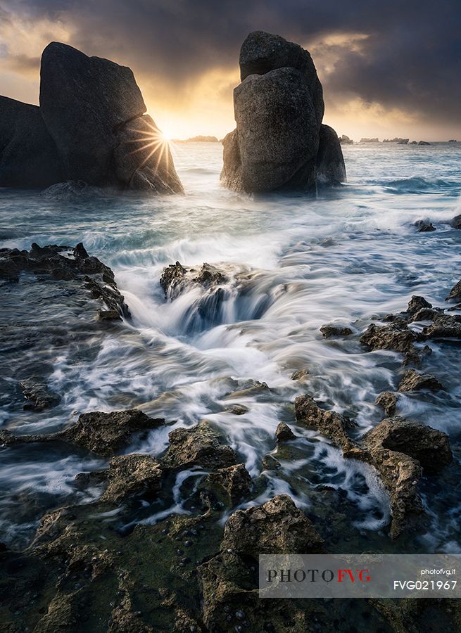
[[[238,180],[248,192],[315,188],[319,131],[298,70],[278,68],[246,77],[234,89],[234,113],[239,165],[225,163],[227,186]]]

